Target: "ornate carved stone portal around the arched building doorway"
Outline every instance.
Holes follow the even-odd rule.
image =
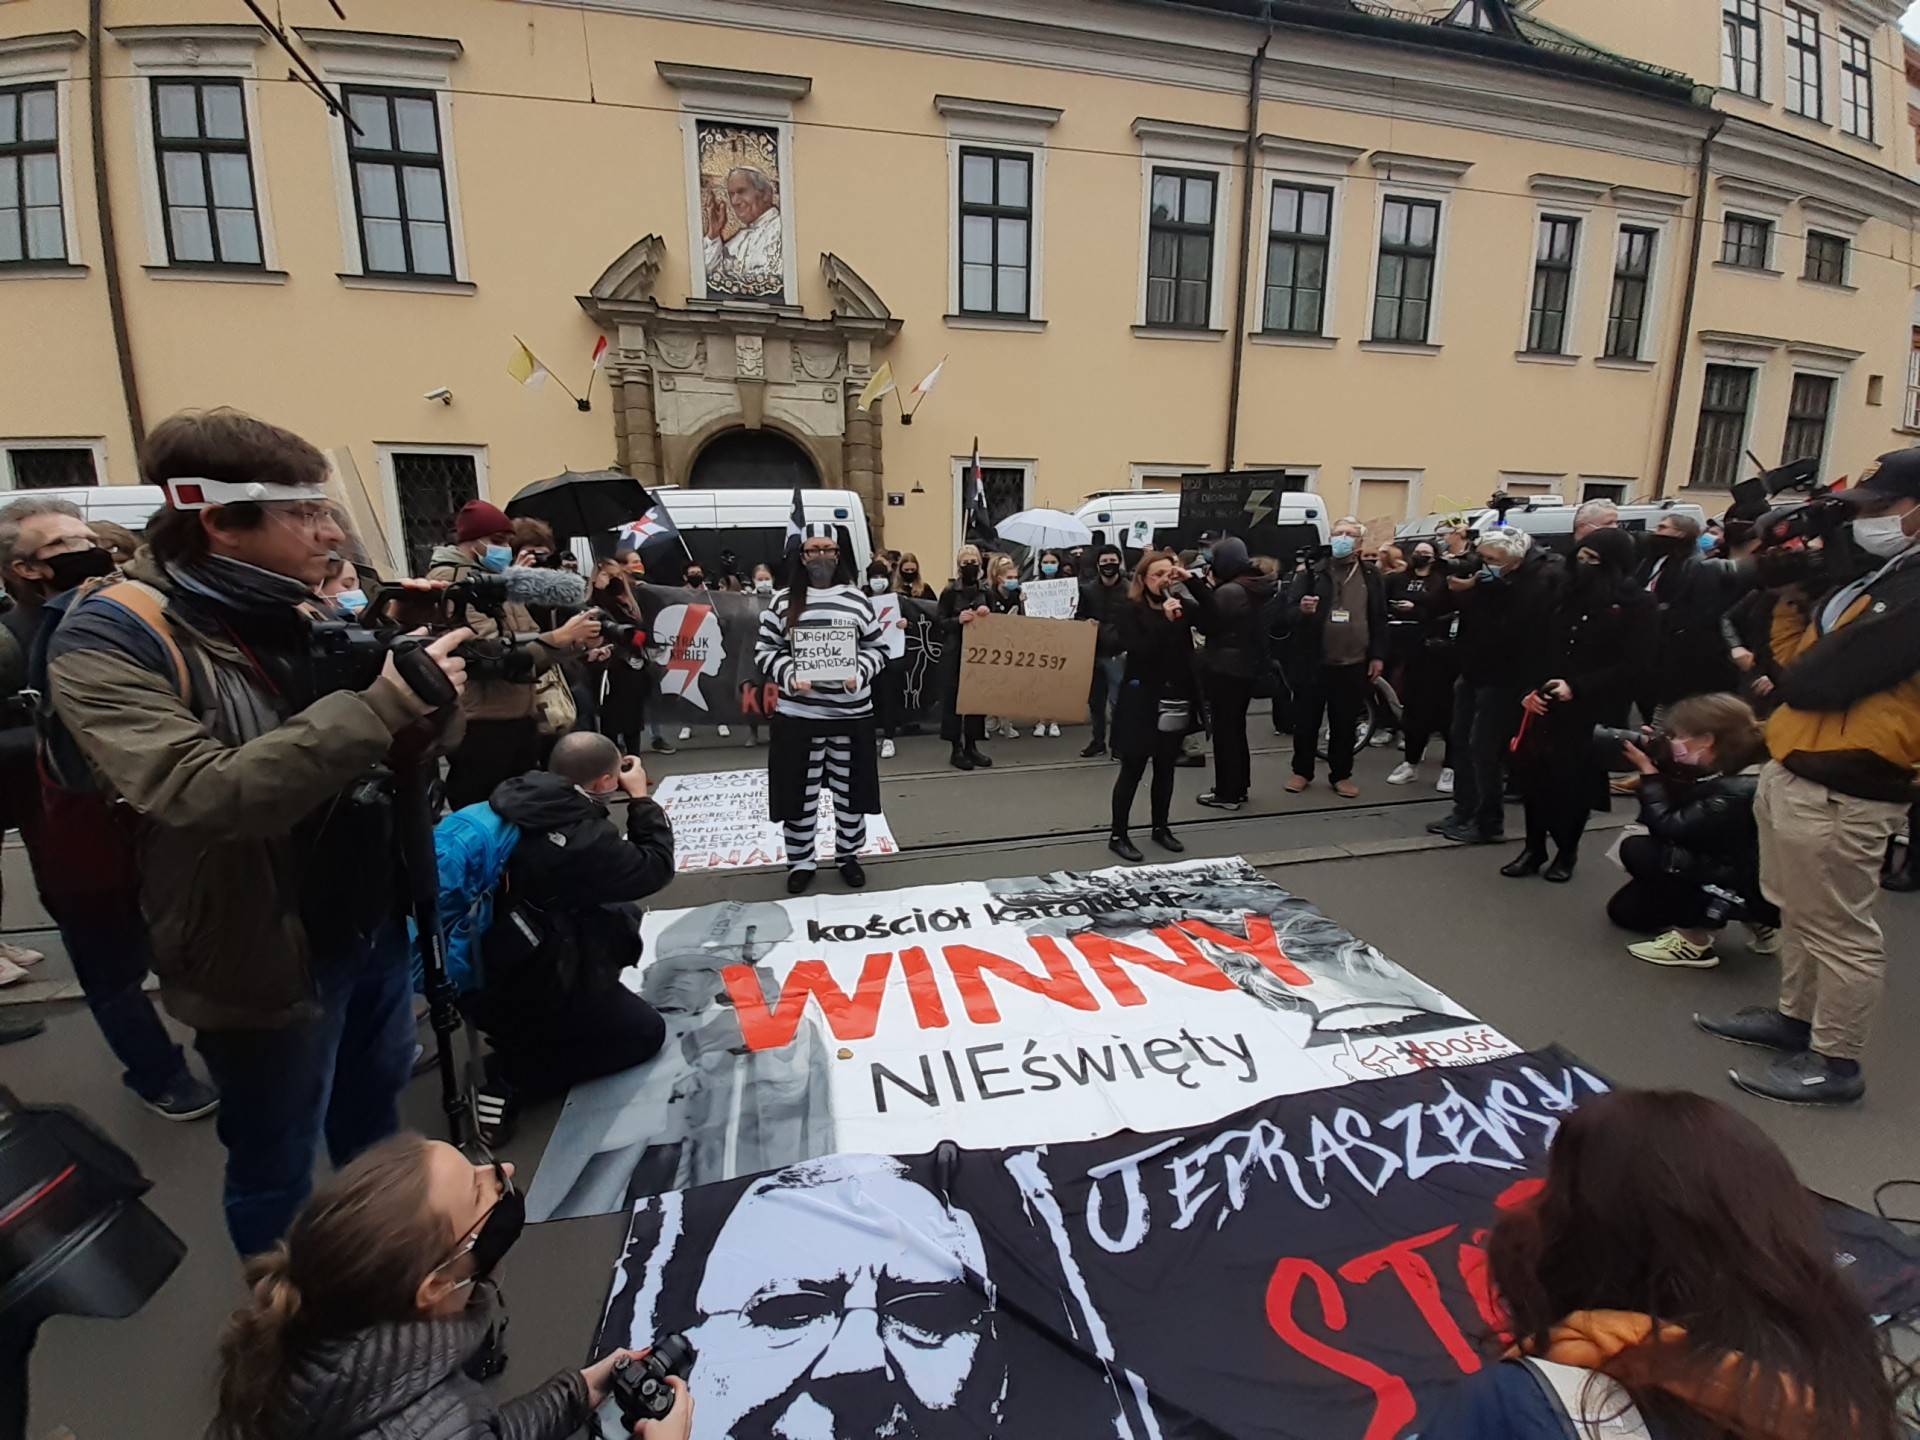
[[[877,411],[854,401],[900,321],[831,253],[820,257],[833,301],[826,319],[797,305],[672,309],[653,298],[664,252],[649,234],[580,296],[607,332],[614,465],[649,488],[684,486],[716,436],[776,430],[806,453],[822,486],[860,495],[877,540],[883,430]]]

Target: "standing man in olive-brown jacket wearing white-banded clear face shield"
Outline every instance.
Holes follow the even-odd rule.
[[[457,718],[470,637],[388,653],[365,689],[319,693],[315,586],[344,536],[326,457],[238,411],[161,420],[140,455],[167,509],[127,582],[48,641],[52,707],[136,816],[140,906],[167,1010],[221,1091],[227,1229],[267,1250],[313,1185],[399,1129],[413,983],[399,922],[396,743]]]

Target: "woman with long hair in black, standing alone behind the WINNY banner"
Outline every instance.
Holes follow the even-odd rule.
[[[1119,641],[1127,666],[1114,703],[1114,755],[1119,776],[1114,780],[1114,826],[1106,849],[1121,860],[1139,864],[1146,856],[1127,837],[1133,818],[1133,797],[1140,778],[1152,766],[1148,789],[1152,837],[1164,851],[1185,851],[1169,824],[1173,808],[1173,768],[1181,758],[1181,741],[1200,720],[1198,684],[1194,680],[1194,614],[1198,609],[1187,589],[1187,570],[1167,551],[1146,551],[1133,566],[1133,586],[1127,605],[1119,611]]]

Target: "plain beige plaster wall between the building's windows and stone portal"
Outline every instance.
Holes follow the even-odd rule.
[[[649,0],[649,8],[662,6]],[[323,0],[286,0],[284,10],[288,25],[340,25]],[[687,10],[697,12],[693,0]],[[979,21],[900,29],[893,38],[912,44],[885,46],[799,33],[826,25],[824,12],[768,8],[764,13],[780,21],[781,33],[509,0],[388,0],[376,13],[355,12],[359,25],[463,42],[451,71],[451,150],[470,294],[349,288],[338,278],[342,225],[330,150],[336,121],[311,92],[282,79],[286,60],[271,48],[253,52],[255,169],[271,204],[284,278],[253,284],[148,271],[146,198],[132,138],[134,106],[144,104],[146,88],[132,73],[127,46],[108,38],[113,209],[148,422],[186,405],[238,405],[323,445],[349,447],[369,480],[380,474],[384,444],[484,447],[497,499],[563,467],[609,463],[614,440],[603,382],[595,384],[593,411],[582,415],[555,386],[538,394],[520,390],[505,365],[511,336],[518,334],[578,390],[599,326],[574,298],[645,234],[664,240],[655,298],[662,305],[684,303],[689,228],[682,96],[655,69],[655,61],[678,61],[812,79],[810,94],[793,108],[793,173],[785,196],[799,248],[799,300],[808,315],[828,311],[818,259],[833,252],[902,319],[899,338],[877,353],[893,363],[902,388],[948,357],[939,390],[912,426],[902,426],[895,401],[885,401],[885,488],[906,493],[904,507],[876,515],[885,522],[887,543],[916,549],[929,557],[929,570],[941,568],[931,557],[947,555],[952,545],[952,463],[970,453],[975,436],[989,457],[1031,461],[1035,503],[1062,509],[1089,492],[1125,488],[1137,465],[1169,457],[1187,465],[1223,463],[1231,338],[1135,334],[1142,161],[1133,127],[1150,117],[1242,132],[1244,58],[1258,44],[1256,33],[1158,8],[1089,2],[1083,13],[1096,31],[1085,36],[1083,50],[1092,54],[1112,44],[1114,60],[1102,54],[1058,60],[1060,50],[1043,46],[1033,54],[1050,63],[1014,63],[995,58],[1027,44],[1025,31],[1010,21],[998,31],[987,27],[993,35],[981,40],[954,33]],[[234,17],[225,2],[108,0],[109,27]],[[84,31],[84,25],[83,0],[13,0],[0,6],[0,60],[6,36]],[[1171,25],[1183,27],[1175,35],[1190,40],[1190,52],[1165,46]],[[1140,46],[1154,40],[1158,48],[1114,40],[1112,33],[1123,27],[1158,27],[1135,36]],[[1012,36],[1004,44],[1000,31]],[[920,42],[918,35],[927,38]],[[1359,71],[1413,63],[1438,98],[1367,113],[1361,102],[1302,104],[1298,71],[1269,75],[1260,111],[1263,134],[1348,146],[1356,156],[1338,177],[1332,344],[1246,346],[1240,463],[1319,467],[1319,488],[1336,511],[1350,507],[1369,472],[1415,472],[1402,486],[1415,511],[1442,501],[1478,503],[1503,472],[1565,476],[1569,495],[1578,495],[1582,474],[1630,476],[1634,493],[1649,490],[1690,213],[1665,219],[1649,363],[1599,365],[1615,228],[1622,217],[1617,188],[1688,198],[1693,146],[1709,117],[1567,81],[1507,77],[1484,61],[1419,54],[1411,61],[1394,60],[1379,48],[1369,52],[1359,42],[1325,36],[1290,36],[1286,56],[1286,63]],[[84,50],[73,52],[71,63],[84,77]],[[1638,129],[1611,134],[1611,121],[1596,121],[1596,134],[1582,136],[1565,121],[1532,125],[1505,111],[1475,117],[1469,106],[1480,104],[1476,96],[1490,86],[1532,86],[1542,113],[1553,106],[1574,115],[1582,106],[1619,109]],[[939,94],[1064,111],[1046,132],[1041,261],[1046,328],[1041,332],[956,328],[941,319],[948,296],[950,198],[947,129],[933,106]],[[0,346],[0,444],[25,436],[100,436],[108,478],[131,482],[132,436],[115,378],[86,163],[84,83],[73,84],[69,117],[69,171],[86,271],[58,280],[0,278],[0,328],[13,340]],[[1392,188],[1377,171],[1379,152],[1469,163],[1442,186],[1448,213],[1434,351],[1363,344],[1377,207],[1382,188]],[[1217,244],[1236,252],[1242,202],[1236,171],[1229,175],[1235,179],[1225,186],[1215,234]],[[1569,363],[1517,357],[1536,217],[1542,207],[1567,213],[1563,198],[1542,196],[1536,177],[1590,182],[1586,207],[1576,211],[1582,252],[1569,351],[1578,359]],[[1263,188],[1256,190],[1256,205],[1248,244],[1250,328],[1260,315]],[[1709,202],[1709,219],[1716,209]],[[1799,230],[1799,223],[1784,221],[1782,232],[1788,230]],[[1705,242],[1711,261],[1713,225]],[[1891,426],[1899,420],[1908,348],[1910,248],[1907,225],[1864,223],[1853,292],[1799,282],[1797,250],[1786,276],[1703,267],[1695,332],[1763,334],[1778,342],[1764,361],[1753,428],[1763,457],[1778,449],[1791,372],[1788,346],[1799,342],[1859,351],[1841,380],[1830,449],[1836,468],[1899,438]],[[1868,252],[1878,255],[1868,261]],[[1229,253],[1223,305],[1229,330],[1233,278]],[[1703,344],[1693,340],[1688,348],[1670,484],[1684,482],[1692,453]],[[1866,376],[1880,372],[1887,376],[1887,403],[1876,411],[1866,405]],[[451,405],[422,399],[436,386],[453,390]],[[912,493],[916,482],[924,493]],[[1369,503],[1388,493],[1365,484]]]

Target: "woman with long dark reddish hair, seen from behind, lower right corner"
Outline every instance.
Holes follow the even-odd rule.
[[[1546,1188],[1496,1225],[1488,1269],[1511,1363],[1465,1382],[1425,1440],[1899,1434],[1818,1200],[1716,1100],[1619,1091],[1582,1104]],[[1645,1430],[1628,1427],[1636,1413]]]

